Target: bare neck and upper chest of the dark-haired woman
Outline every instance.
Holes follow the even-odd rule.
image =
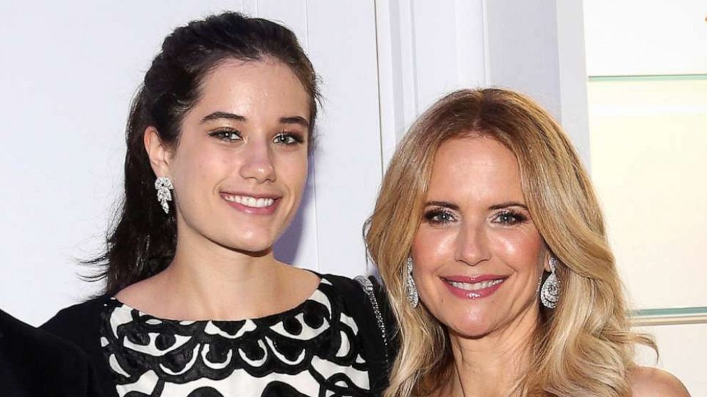
[[[182,235],[167,269],[116,297],[161,318],[233,320],[295,307],[319,284],[314,273],[276,260],[272,249],[246,253],[205,240]]]

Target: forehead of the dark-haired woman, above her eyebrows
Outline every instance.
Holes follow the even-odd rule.
[[[244,117],[299,115],[309,120],[309,98],[297,76],[277,60],[225,60],[206,76],[195,111],[219,110]]]

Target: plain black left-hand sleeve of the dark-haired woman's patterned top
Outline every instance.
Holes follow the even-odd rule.
[[[100,392],[107,397],[117,397],[113,376],[108,361],[100,346],[100,324],[103,306],[109,297],[98,297],[78,305],[61,309],[40,328],[76,344],[86,353],[96,370],[96,381]]]

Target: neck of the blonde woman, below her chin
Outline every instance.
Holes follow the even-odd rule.
[[[529,364],[537,309],[480,338],[450,334],[455,377],[447,396],[509,396]]]

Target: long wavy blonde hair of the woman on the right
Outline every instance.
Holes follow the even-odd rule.
[[[567,135],[533,100],[501,89],[459,90],[421,115],[399,144],[366,222],[366,246],[400,323],[386,397],[425,396],[453,375],[445,327],[406,300],[405,261],[420,225],[435,154],[444,142],[492,137],[517,158],[533,222],[559,261],[556,309],[540,307],[520,396],[630,396],[636,343],[599,203]],[[473,156],[473,153],[469,154]],[[469,181],[473,183],[473,181]]]

